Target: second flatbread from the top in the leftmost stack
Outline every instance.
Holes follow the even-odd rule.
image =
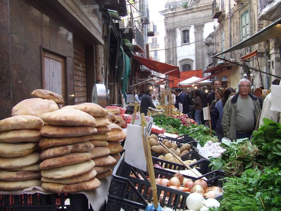
[[[42,138],[40,130],[37,129],[5,130],[0,132],[0,142],[6,143],[39,142]]]

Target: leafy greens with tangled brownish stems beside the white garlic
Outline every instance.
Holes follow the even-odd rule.
[[[226,149],[220,158],[210,159],[214,170],[222,169],[226,176],[241,176],[244,169],[262,168],[255,161],[258,148],[248,138],[237,139],[236,142],[222,140],[221,147]]]

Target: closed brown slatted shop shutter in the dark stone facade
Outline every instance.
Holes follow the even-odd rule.
[[[75,104],[87,102],[87,74],[85,46],[74,40]]]

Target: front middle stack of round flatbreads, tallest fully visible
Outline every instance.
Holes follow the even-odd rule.
[[[97,133],[94,117],[81,110],[61,109],[42,115],[47,123],[40,131],[45,138],[40,164],[42,187],[57,193],[94,190],[100,186],[93,169],[92,134]]]

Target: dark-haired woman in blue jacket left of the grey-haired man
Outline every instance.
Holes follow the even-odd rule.
[[[215,134],[218,137],[219,141],[221,141],[223,138],[223,129],[222,129],[223,107],[225,106],[225,103],[228,100],[228,98],[233,95],[235,95],[234,89],[232,89],[231,87],[226,89],[223,98],[217,101],[213,113],[211,115],[212,130],[215,131]]]

